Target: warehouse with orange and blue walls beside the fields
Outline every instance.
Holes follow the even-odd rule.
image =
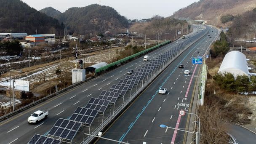
[[[29,35],[26,37],[26,40],[32,41],[35,45],[42,43],[55,43],[55,34],[41,34],[41,35]]]

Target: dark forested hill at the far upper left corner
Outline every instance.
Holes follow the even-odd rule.
[[[21,0],[0,0],[0,32],[59,33],[64,25]]]

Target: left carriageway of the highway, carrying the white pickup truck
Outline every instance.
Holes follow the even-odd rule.
[[[193,35],[190,34],[190,35]],[[183,40],[179,40],[180,43]],[[159,56],[166,48],[173,47],[176,43],[171,43],[159,48],[151,53],[148,53],[149,60]],[[128,69],[137,69],[146,62],[143,61],[143,56],[135,59],[127,64],[122,65],[110,72],[94,78],[80,86],[77,86],[65,93],[61,93],[52,99],[48,99],[35,107],[29,108],[24,112],[8,118],[0,123],[0,139],[1,143],[21,144],[27,143],[35,133],[46,135],[52,128],[58,118],[69,118],[77,107],[85,107],[91,97],[98,97],[102,90],[109,89],[112,84],[125,77]],[[48,110],[49,116],[47,119],[37,125],[27,123],[27,118],[36,110]]]

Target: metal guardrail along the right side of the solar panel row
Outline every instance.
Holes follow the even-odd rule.
[[[208,30],[208,32],[209,32],[209,30]],[[205,34],[203,34],[201,37],[198,37],[197,40],[199,40],[200,38],[202,38],[203,36],[205,36],[208,32],[205,32]],[[191,42],[189,45],[187,45],[187,47],[183,48],[182,50],[177,51],[177,52],[175,53],[176,55],[175,55],[174,57],[170,57],[170,58],[169,58],[170,60],[169,60],[168,62],[164,63],[164,64],[163,64],[163,67],[161,67],[160,70],[157,69],[157,72],[156,72],[156,73],[154,72],[154,75],[153,75],[153,76],[152,76],[152,75],[151,75],[151,76],[148,75],[148,76],[150,76],[149,79],[148,79],[148,76],[147,76],[147,77],[144,77],[144,79],[147,78],[147,81],[146,81],[145,83],[143,83],[143,80],[142,80],[141,87],[140,87],[139,89],[137,89],[137,91],[135,91],[135,93],[131,94],[131,96],[130,96],[128,99],[126,99],[126,100],[124,101],[124,103],[123,103],[120,107],[118,107],[117,109],[115,109],[115,111],[113,112],[113,114],[110,114],[110,115],[109,115],[101,124],[99,124],[99,126],[96,127],[96,128],[93,130],[93,132],[91,132],[90,134],[96,136],[96,135],[97,135],[99,132],[101,132],[107,125],[109,125],[109,123],[111,123],[111,122],[115,119],[115,117],[117,117],[117,116],[120,114],[120,112],[122,112],[123,109],[124,109],[125,107],[127,107],[128,104],[130,104],[130,103],[139,95],[139,93],[141,93],[141,91],[143,91],[145,88],[147,88],[147,86],[149,85],[149,83],[152,82],[152,80],[154,80],[158,75],[160,75],[160,73],[162,73],[165,68],[167,68],[181,53],[183,53],[184,51],[186,51],[187,48],[189,48],[191,45],[193,45],[194,43],[196,43],[197,40],[195,40],[194,42]],[[152,73],[153,73],[153,72],[152,72]],[[152,73],[149,73],[149,74],[152,74]],[[139,84],[137,84],[137,85],[139,85]],[[132,88],[132,89],[133,89],[133,88]],[[131,93],[132,93],[132,89],[131,89]],[[93,136],[88,136],[88,137],[87,137],[83,142],[81,142],[80,144],[89,144],[94,138],[95,138],[95,137],[93,137]]]

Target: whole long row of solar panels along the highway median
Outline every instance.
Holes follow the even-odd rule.
[[[165,53],[162,53],[161,56],[158,56],[154,60],[149,61],[137,71],[134,71],[131,76],[120,80],[117,85],[112,85],[109,91],[102,91],[98,98],[91,98],[85,107],[77,107],[70,117],[70,120],[59,118],[53,125],[53,128],[51,128],[49,135],[67,140],[74,139],[75,134],[82,124],[91,125],[99,112],[105,112],[109,103],[115,104],[119,96],[124,96],[128,90],[138,84],[144,77],[148,76],[150,72],[157,69],[161,64],[174,56],[177,51],[197,40],[202,35],[202,32],[203,31],[200,31],[193,37],[181,40],[182,43],[174,44],[174,47],[165,51]],[[35,134],[28,144],[59,144],[60,142],[61,141],[58,139]]]

